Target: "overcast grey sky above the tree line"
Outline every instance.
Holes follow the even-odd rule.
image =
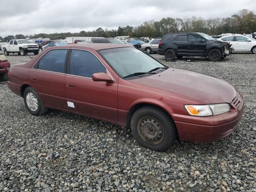
[[[80,32],[137,26],[163,17],[227,17],[256,13],[255,0],[8,0],[0,5],[0,36]]]

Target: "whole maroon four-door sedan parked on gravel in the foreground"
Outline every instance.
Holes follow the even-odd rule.
[[[167,150],[232,133],[243,96],[227,82],[168,68],[127,44],[71,44],[11,66],[8,87],[36,116],[48,108],[130,127],[136,141]]]

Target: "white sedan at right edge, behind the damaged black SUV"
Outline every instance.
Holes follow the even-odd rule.
[[[229,35],[218,38],[220,41],[232,44],[234,51],[252,52],[256,54],[256,39],[244,35]]]

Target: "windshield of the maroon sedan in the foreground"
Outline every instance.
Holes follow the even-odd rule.
[[[149,72],[154,68],[165,67],[147,54],[132,47],[105,49],[99,52],[121,77],[136,72]]]

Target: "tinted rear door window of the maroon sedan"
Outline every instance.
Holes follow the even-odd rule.
[[[46,53],[38,62],[38,69],[65,73],[65,60],[68,50],[58,49]]]

